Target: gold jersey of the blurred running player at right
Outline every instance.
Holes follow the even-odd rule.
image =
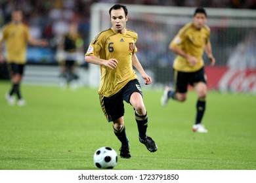
[[[196,29],[193,23],[184,25],[173,41],[170,42],[170,45],[177,46],[186,54],[196,57],[198,63],[191,65],[185,58],[178,55],[173,63],[173,68],[182,72],[194,72],[201,69],[204,65],[202,56],[205,45],[210,41],[209,37],[210,29],[207,25],[204,25],[200,30]]]

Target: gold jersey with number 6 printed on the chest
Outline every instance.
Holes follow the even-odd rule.
[[[126,29],[124,34],[120,34],[110,28],[98,33],[95,40],[91,42],[85,56],[95,55],[101,59],[114,58],[118,61],[115,69],[100,65],[99,94],[110,97],[130,80],[137,78],[132,63],[132,55],[137,52],[135,46],[137,39],[138,35],[134,31]]]

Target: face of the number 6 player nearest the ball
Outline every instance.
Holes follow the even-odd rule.
[[[111,11],[110,17],[112,27],[116,33],[124,33],[128,16],[125,16],[123,8]]]

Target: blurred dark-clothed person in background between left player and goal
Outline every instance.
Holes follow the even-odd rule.
[[[68,33],[60,38],[56,52],[60,65],[60,86],[77,85],[77,67],[83,63],[83,55],[83,39],[78,32],[78,24],[74,22],[70,24]]]

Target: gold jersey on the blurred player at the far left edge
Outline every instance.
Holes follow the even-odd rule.
[[[27,42],[30,31],[26,24],[7,24],[3,29],[3,41],[7,50],[9,63],[26,63]]]

